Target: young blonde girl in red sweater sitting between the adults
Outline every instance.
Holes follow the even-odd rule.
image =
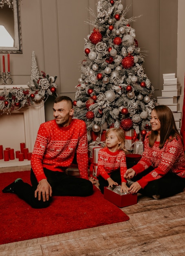
[[[106,132],[106,147],[98,153],[97,177],[99,189],[104,193],[104,186],[112,187],[121,184],[121,192],[128,193],[126,179],[125,134],[120,128],[110,128]]]

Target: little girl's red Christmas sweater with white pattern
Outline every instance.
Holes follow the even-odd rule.
[[[123,150],[111,152],[107,147],[101,148],[98,152],[97,176],[102,176],[105,180],[110,177],[110,173],[120,169],[121,182],[127,182],[123,177],[126,173],[126,155]]]

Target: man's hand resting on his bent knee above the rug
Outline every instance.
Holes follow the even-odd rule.
[[[38,200],[41,200],[41,194],[43,202],[48,201],[49,197],[52,195],[52,188],[46,179],[40,180],[37,189],[35,190],[35,198],[37,197],[38,193]]]

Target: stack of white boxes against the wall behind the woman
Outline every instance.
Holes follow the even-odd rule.
[[[166,105],[172,110],[176,127],[180,130],[181,111],[179,111],[177,100],[180,96],[181,85],[177,83],[175,73],[163,74],[163,81],[162,97],[157,97],[157,103]]]

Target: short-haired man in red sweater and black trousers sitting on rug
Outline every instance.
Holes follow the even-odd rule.
[[[52,195],[88,196],[94,178],[88,178],[88,142],[84,121],[73,119],[73,101],[57,97],[54,120],[40,125],[31,157],[31,184],[18,178],[2,192],[15,193],[33,208],[48,207]],[[77,156],[80,177],[66,175]]]

